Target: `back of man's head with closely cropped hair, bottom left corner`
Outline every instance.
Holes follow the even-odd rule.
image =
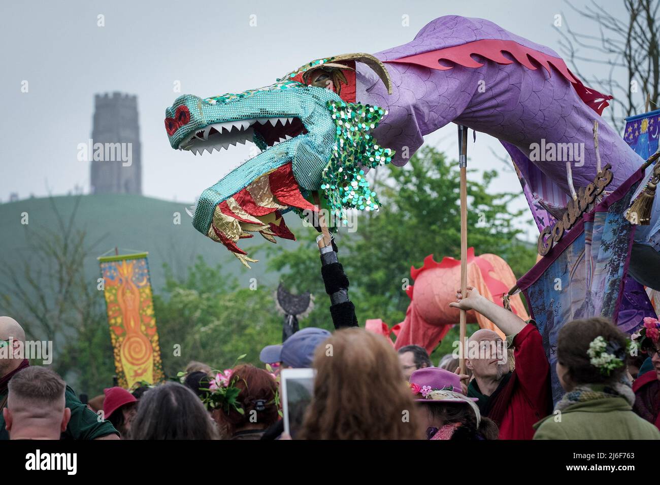
[[[28,367],[9,381],[2,411],[9,439],[59,439],[71,419],[66,383],[44,367]]]

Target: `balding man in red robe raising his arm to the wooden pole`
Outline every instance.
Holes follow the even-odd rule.
[[[479,311],[512,341],[515,370],[510,370],[507,342],[492,330],[480,329],[469,339],[465,366],[475,378],[467,388],[469,397],[479,399],[482,416],[500,428],[500,439],[532,439],[533,424],[552,410],[550,364],[537,327],[484,298],[472,286],[465,296],[457,290],[451,307]],[[474,345],[473,342],[477,342]],[[473,352],[473,345],[478,352]]]

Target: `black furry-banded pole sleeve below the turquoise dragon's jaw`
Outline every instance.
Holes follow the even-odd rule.
[[[322,237],[322,236],[319,236]],[[319,247],[321,253],[321,276],[325,292],[330,296],[330,315],[335,329],[358,327],[355,306],[348,299],[348,278],[337,259],[337,246],[331,244]]]

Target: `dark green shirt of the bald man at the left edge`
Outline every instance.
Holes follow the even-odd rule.
[[[7,392],[0,394],[0,403],[5,400]],[[117,430],[110,421],[98,421],[98,415],[90,408],[81,403],[76,393],[67,385],[64,393],[67,408],[71,409],[71,420],[67,430],[62,433],[60,439],[96,439],[109,434],[117,434]],[[6,404],[5,404],[6,406]],[[5,430],[5,418],[0,412],[0,439],[9,439],[9,433]]]

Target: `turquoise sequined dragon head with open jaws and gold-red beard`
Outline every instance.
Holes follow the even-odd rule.
[[[356,62],[368,65],[388,90],[390,79],[376,57],[347,54],[312,61],[274,84],[237,94],[180,96],[166,109],[172,148],[195,154],[252,141],[259,154],[200,195],[193,226],[224,244],[249,267],[242,238],[258,232],[271,242],[295,239],[282,214],[301,217],[322,206],[342,220],[347,209],[380,206],[365,170],[391,161],[393,150],[371,135],[384,108],[355,102]]]

